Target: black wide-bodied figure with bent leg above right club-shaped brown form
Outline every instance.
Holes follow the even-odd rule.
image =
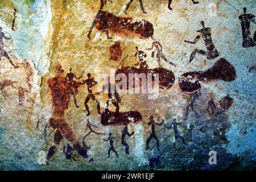
[[[204,21],[201,21],[201,25],[203,28],[201,30],[197,30],[196,32],[200,32],[201,36],[203,37],[205,46],[207,47],[207,51],[201,50],[201,49],[195,49],[190,56],[189,63],[193,59],[195,59],[196,53],[199,53],[200,55],[205,55],[207,56],[207,59],[214,59],[219,56],[219,53],[217,49],[215,48],[213,42],[212,42],[212,30],[211,28],[205,28],[204,26]],[[197,35],[194,42],[185,40],[185,43],[190,43],[190,44],[196,44],[196,42],[200,39],[200,35]]]

